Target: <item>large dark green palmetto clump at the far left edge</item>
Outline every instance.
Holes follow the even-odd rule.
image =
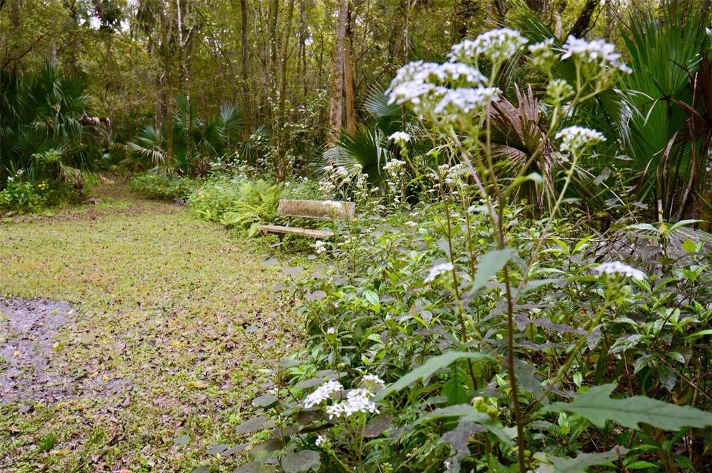
[[[83,125],[90,112],[85,80],[49,63],[35,74],[0,71],[0,189],[23,174],[33,185],[83,190],[83,171],[95,167],[102,127]],[[37,204],[39,202],[36,202]]]

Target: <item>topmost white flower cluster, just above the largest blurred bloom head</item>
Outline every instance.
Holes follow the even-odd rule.
[[[527,42],[519,31],[498,28],[454,45],[448,56],[450,61],[467,64],[476,64],[479,56],[485,56],[493,63],[502,63],[518,53]]]

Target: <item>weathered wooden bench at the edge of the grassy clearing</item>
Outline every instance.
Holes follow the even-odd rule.
[[[315,230],[308,228],[290,227],[293,218],[324,219],[324,220],[352,220],[356,204],[353,202],[339,202],[335,200],[287,200],[279,201],[277,214],[288,217],[284,225],[260,225],[258,230],[265,233],[293,234],[300,237],[328,239],[334,232],[329,230]]]

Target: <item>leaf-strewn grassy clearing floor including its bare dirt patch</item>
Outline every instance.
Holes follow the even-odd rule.
[[[0,471],[232,471],[266,358],[298,344],[280,265],[184,207],[98,193],[0,223]]]

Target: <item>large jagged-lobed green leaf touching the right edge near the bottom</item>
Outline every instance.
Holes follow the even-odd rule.
[[[608,420],[630,429],[639,429],[640,422],[666,430],[712,425],[710,412],[668,404],[646,396],[612,399],[610,395],[615,388],[614,384],[594,386],[572,402],[555,402],[545,407],[544,412],[575,412],[597,427],[604,427]]]

